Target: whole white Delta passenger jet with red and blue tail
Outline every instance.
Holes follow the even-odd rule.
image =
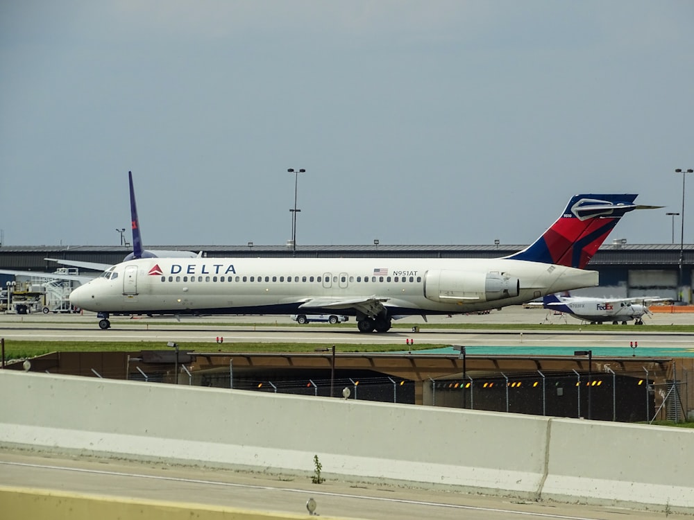
[[[385,332],[407,315],[468,313],[598,285],[584,270],[636,195],[576,195],[524,250],[496,259],[133,258],[70,295],[111,314],[328,314]]]

